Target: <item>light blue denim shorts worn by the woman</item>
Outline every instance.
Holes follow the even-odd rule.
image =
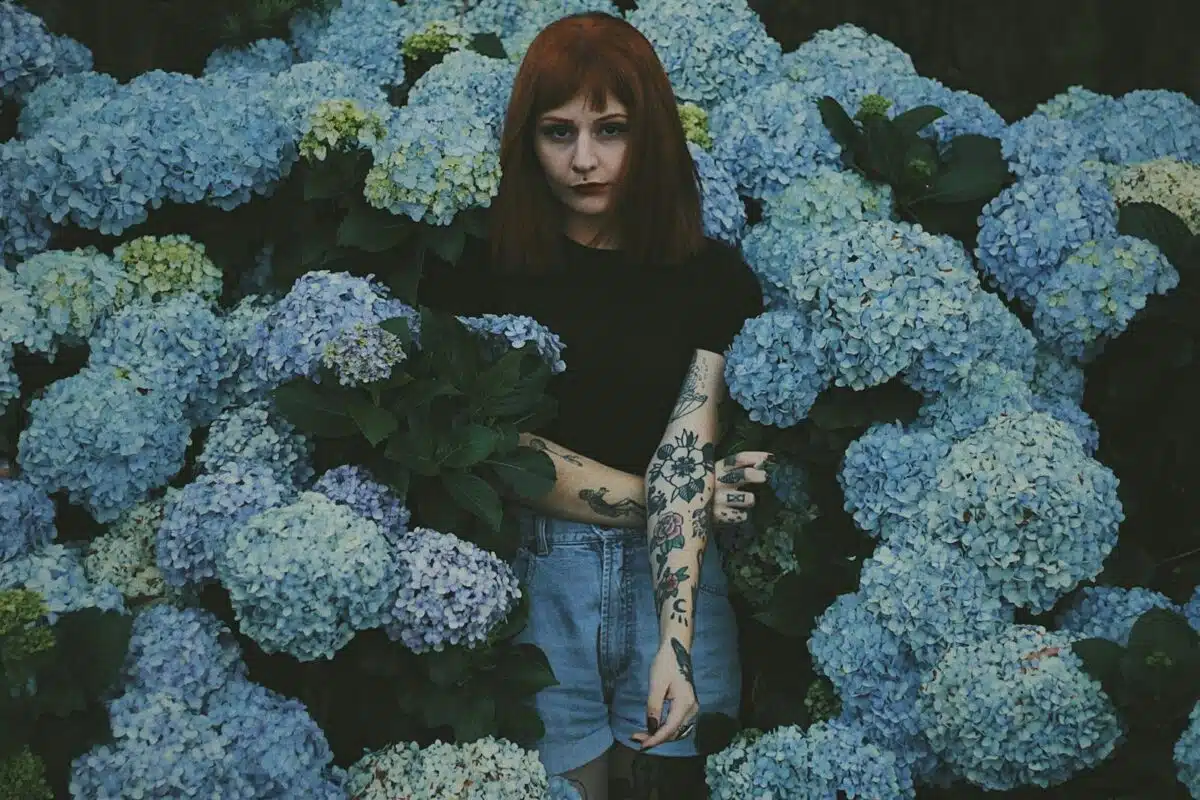
[[[646,730],[650,662],[659,649],[644,528],[601,528],[522,509],[514,570],[529,593],[517,642],[546,654],[557,686],[535,697],[546,735],[538,754],[559,775],[599,758],[614,741],[637,750]],[[738,628],[721,557],[710,539],[701,565],[692,676],[701,714],[738,716]],[[696,734],[647,751],[696,756]]]

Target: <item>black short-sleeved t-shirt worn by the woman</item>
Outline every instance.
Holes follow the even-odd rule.
[[[419,301],[461,315],[524,314],[557,333],[566,345],[566,372],[548,387],[558,415],[530,433],[642,475],[692,353],[724,354],[762,313],[762,290],[716,240],[680,265],[649,267],[564,240],[562,267],[539,276],[491,272],[485,242],[470,240],[456,266],[426,267]]]

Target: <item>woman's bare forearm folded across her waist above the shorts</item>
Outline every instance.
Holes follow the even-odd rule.
[[[554,463],[554,488],[536,500],[524,500],[529,507],[589,525],[646,524],[646,482],[637,475],[606,467],[536,434],[522,433],[521,444],[540,450]]]

